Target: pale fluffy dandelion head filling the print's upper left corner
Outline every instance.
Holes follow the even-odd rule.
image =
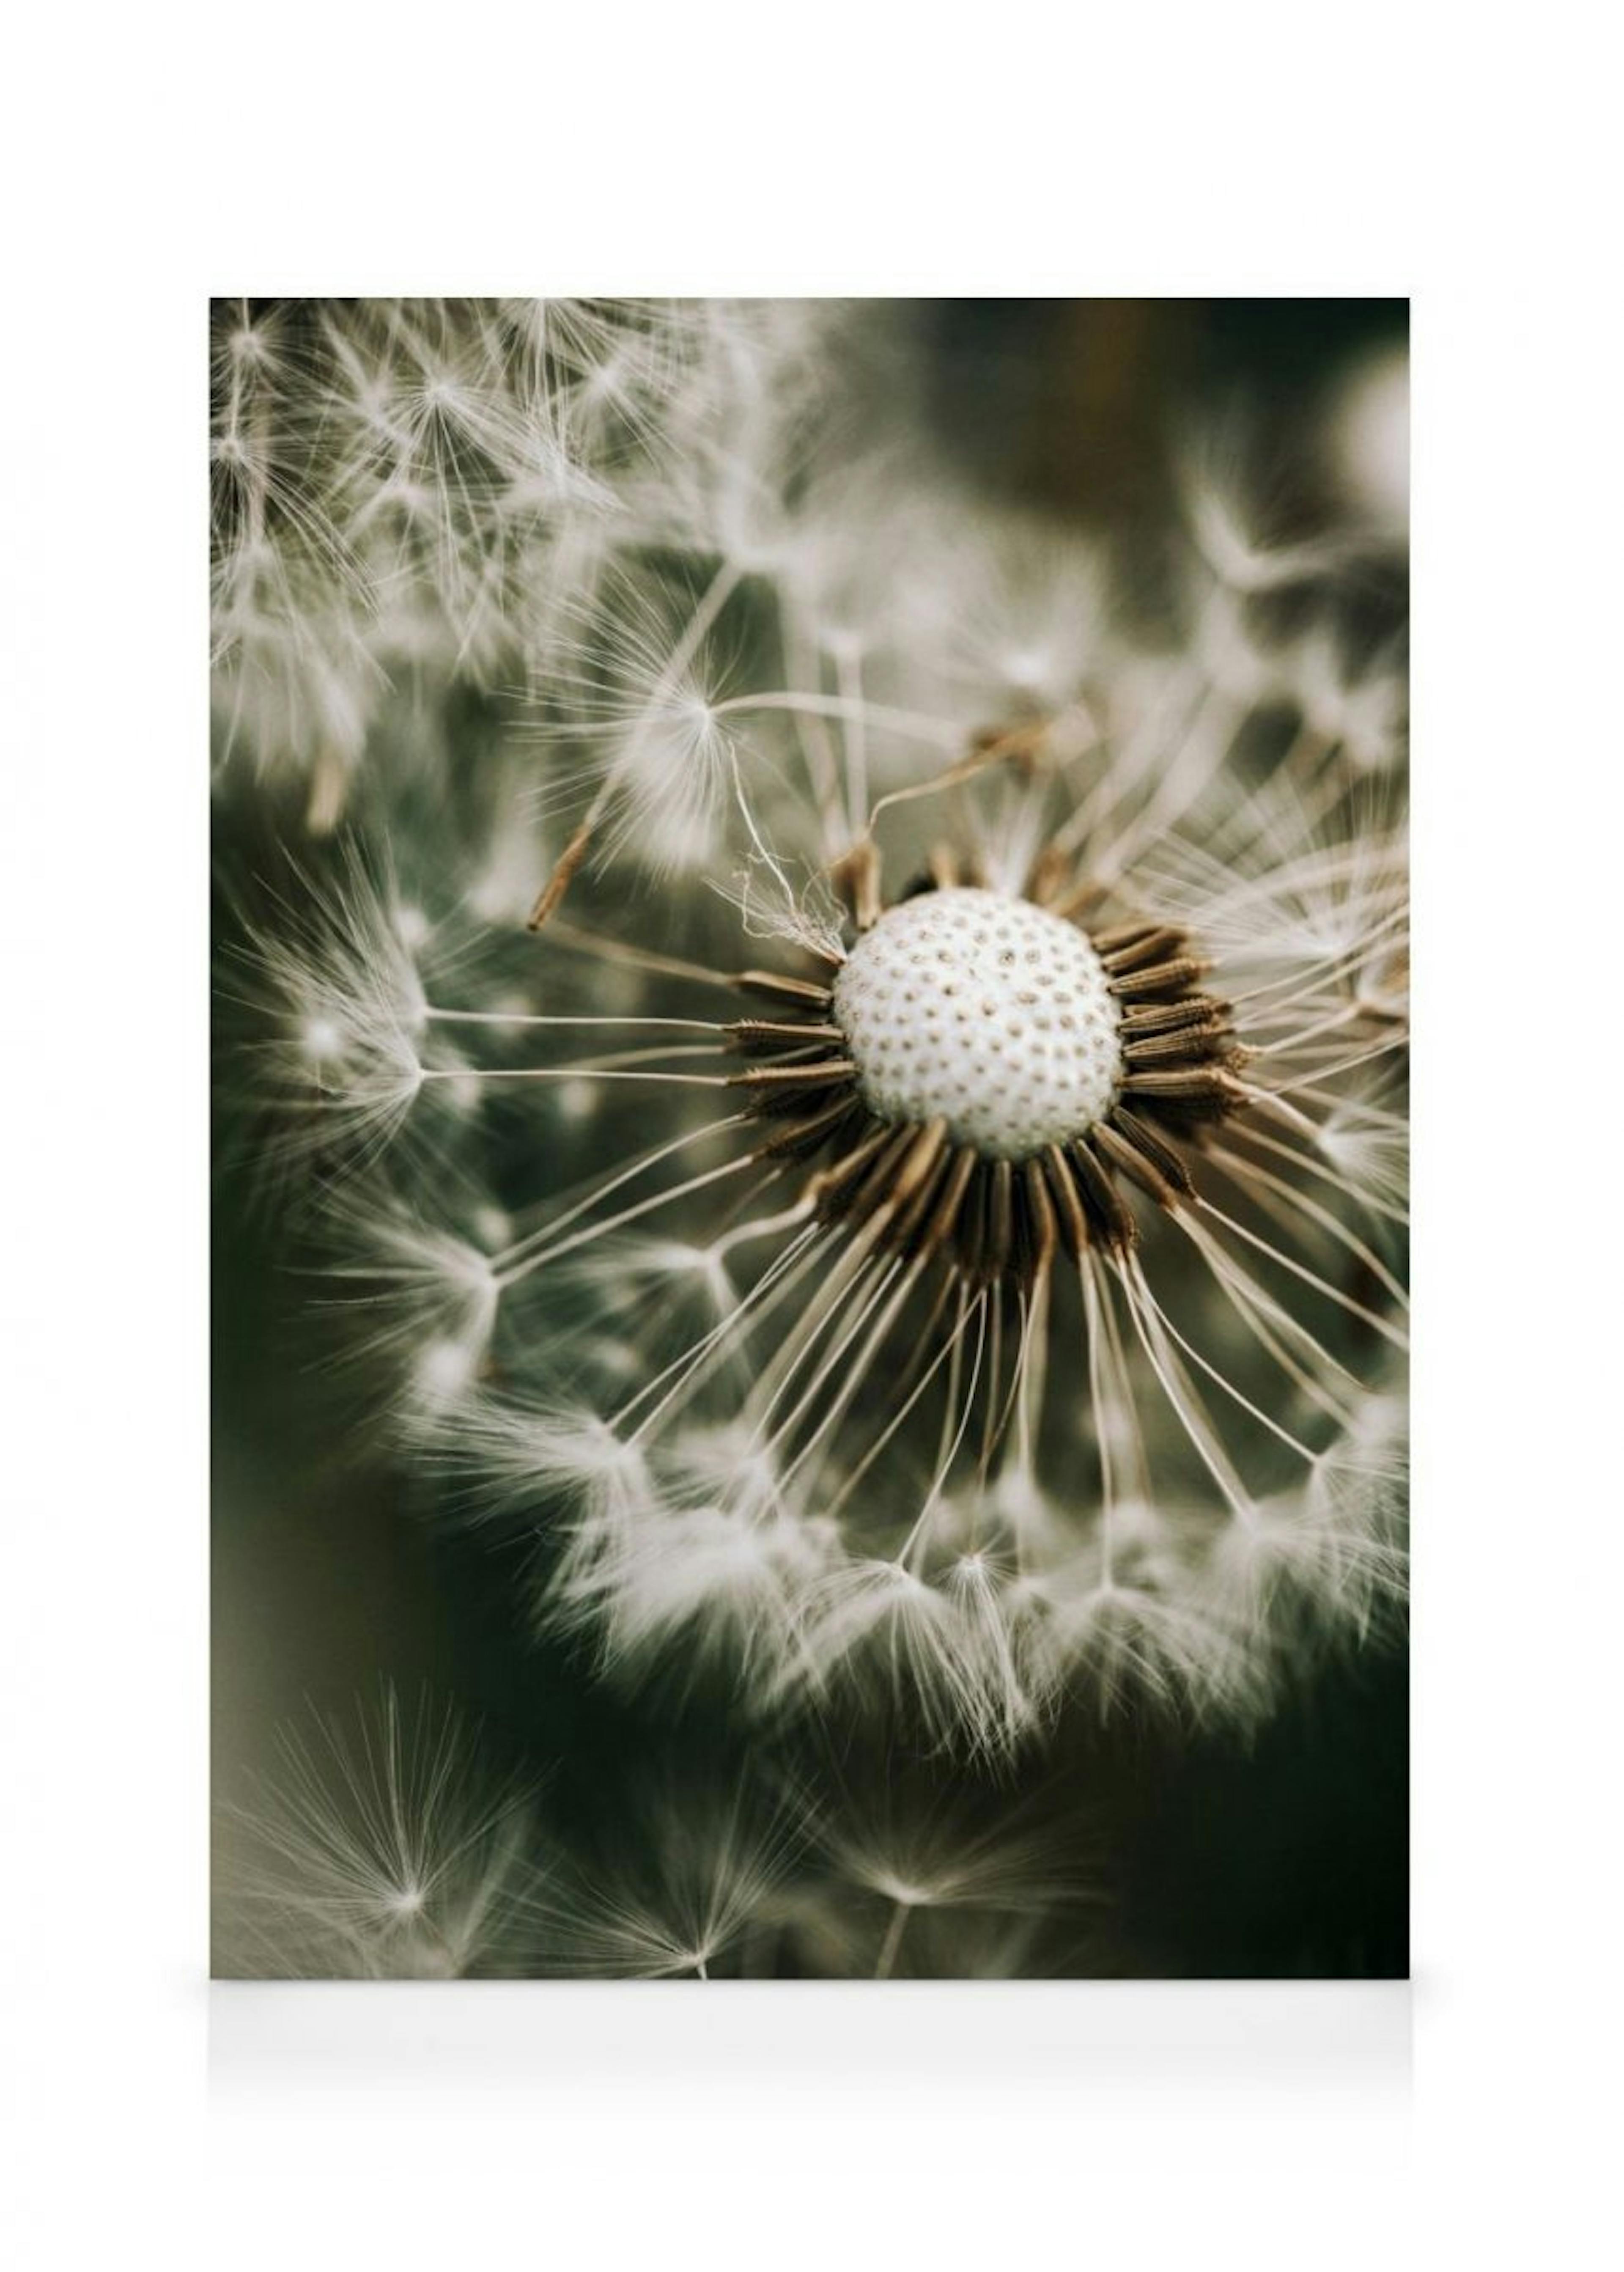
[[[715,509],[702,484],[672,529],[659,500],[775,420],[809,361],[777,334],[747,302],[216,302],[220,766],[302,782],[329,829],[395,679],[520,677],[606,529],[668,543]]]

